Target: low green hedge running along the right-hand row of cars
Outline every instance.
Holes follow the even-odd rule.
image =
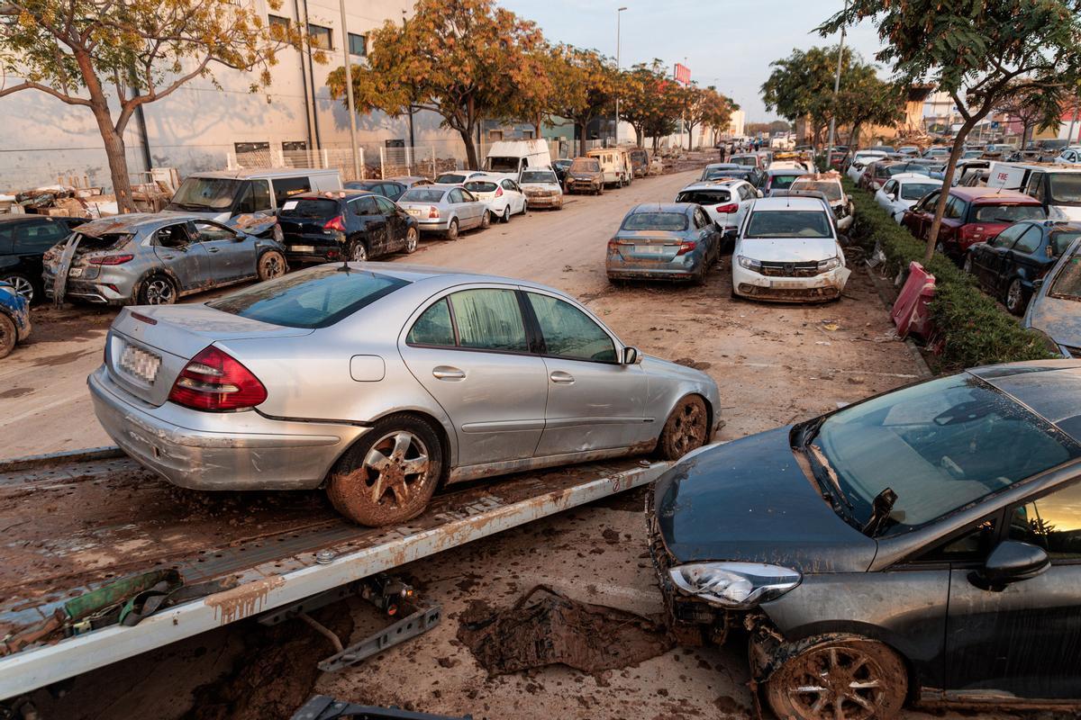
[[[1017,318],[979,289],[975,280],[965,274],[949,258],[935,254],[923,262],[925,244],[896,222],[875,202],[875,196],[857,190],[848,179],[845,191],[855,204],[855,222],[851,231],[868,256],[875,243],[885,254],[886,272],[896,274],[912,260],[935,276],[935,298],[931,302],[931,320],[940,347],[935,369],[951,371],[977,365],[1013,363],[1056,357],[1047,350],[1040,334],[1022,328]]]

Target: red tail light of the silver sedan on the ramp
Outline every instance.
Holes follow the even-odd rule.
[[[169,392],[169,399],[177,405],[211,412],[255,407],[266,398],[259,379],[213,345],[191,358]]]

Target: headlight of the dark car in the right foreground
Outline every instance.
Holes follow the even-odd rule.
[[[803,580],[796,570],[763,562],[694,562],[668,574],[686,595],[737,610],[774,600]]]

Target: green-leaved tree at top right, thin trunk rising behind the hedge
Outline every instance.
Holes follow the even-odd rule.
[[[870,19],[905,83],[931,81],[949,93],[963,122],[953,138],[944,182],[953,180],[969,133],[1012,96],[1038,91],[1046,117],[1078,83],[1081,22],[1077,0],[849,0],[818,27],[823,35]],[[948,193],[940,193],[924,259],[938,241]]]

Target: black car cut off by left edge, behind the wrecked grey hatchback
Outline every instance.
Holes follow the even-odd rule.
[[[30,302],[44,298],[41,256],[85,221],[43,215],[0,217],[0,281],[11,283]]]

